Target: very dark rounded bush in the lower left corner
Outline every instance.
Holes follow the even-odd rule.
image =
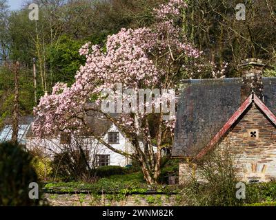
[[[29,184],[37,182],[32,156],[21,146],[0,144],[0,206],[35,206],[29,198]],[[40,193],[39,193],[40,195]]]

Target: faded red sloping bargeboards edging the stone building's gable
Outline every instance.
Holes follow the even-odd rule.
[[[210,140],[210,142],[207,144],[207,146],[204,147],[197,154],[196,159],[201,159],[204,155],[206,155],[206,153],[208,153],[208,151],[213,149],[215,144],[217,144],[217,142],[219,142],[221,137],[223,137],[225,135],[225,133],[230,129],[230,127],[233,126],[233,124],[239,119],[239,117],[242,115],[242,113],[244,113],[244,111],[246,111],[246,109],[248,109],[250,104],[253,102],[255,102],[255,104],[257,104],[257,107],[259,107],[259,109],[261,109],[263,111],[263,113],[269,118],[269,120],[271,122],[273,122],[273,124],[275,124],[275,126],[276,126],[276,116],[268,109],[268,107],[266,107],[264,102],[262,102],[262,100],[260,100],[253,93],[250,96],[248,96],[248,98],[244,101],[242,106],[239,107],[239,109],[237,109],[237,111],[235,111],[235,113],[232,115],[232,117],[228,120],[228,122],[226,122],[226,124],[224,124],[222,129],[219,130],[219,132],[213,137],[213,139]]]

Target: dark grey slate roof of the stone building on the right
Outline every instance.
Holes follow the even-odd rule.
[[[276,78],[262,78],[264,104],[276,114]],[[173,157],[195,156],[239,109],[242,78],[184,80]],[[247,94],[250,96],[250,94]]]

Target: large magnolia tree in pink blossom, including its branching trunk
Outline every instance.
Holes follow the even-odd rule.
[[[34,133],[43,137],[58,131],[93,132],[86,118],[92,111],[101,112],[130,140],[134,153],[113,148],[96,133],[94,137],[115,153],[135,159],[148,184],[157,183],[161,151],[172,142],[175,126],[173,89],[185,63],[200,55],[179,28],[186,7],[183,0],[171,0],[154,10],[156,22],[149,28],[122,29],[108,36],[105,47],[83,45],[79,52],[86,64],[71,87],[57,83],[52,94],[41,98],[34,109]],[[157,94],[158,89],[163,90]]]

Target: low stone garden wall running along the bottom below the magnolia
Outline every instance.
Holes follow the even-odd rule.
[[[93,196],[89,194],[44,195],[50,206],[179,206],[177,195],[115,195]],[[179,197],[180,198],[180,197]]]

